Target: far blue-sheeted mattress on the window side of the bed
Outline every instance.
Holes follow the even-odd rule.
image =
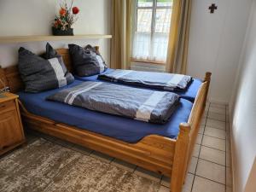
[[[102,74],[109,73],[111,71],[113,71],[113,69],[108,68]],[[103,81],[103,80],[100,80],[100,79],[97,79],[97,78],[98,78],[98,75],[92,75],[92,76],[89,76],[89,77],[75,76],[75,79],[82,80],[82,81]],[[113,83],[113,84],[120,84],[120,83]],[[196,97],[197,91],[199,90],[201,84],[202,84],[201,79],[193,79],[192,83],[189,85],[188,90],[172,91],[172,92],[177,93],[177,95],[181,96],[183,99],[187,99],[190,102],[195,102],[195,97]],[[129,86],[131,86],[131,85],[129,85]],[[135,86],[135,85],[132,85],[132,86]],[[142,88],[142,87],[140,86],[140,88]],[[148,89],[148,88],[143,88],[143,89]]]

